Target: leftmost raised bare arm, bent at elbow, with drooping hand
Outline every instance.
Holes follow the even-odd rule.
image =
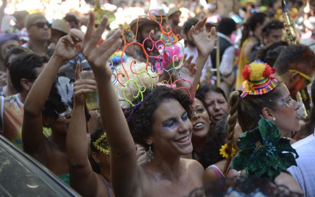
[[[54,79],[64,61],[77,56],[80,49],[76,48],[78,40],[72,35],[60,38],[53,56],[34,82],[24,103],[22,127],[23,149],[28,154],[39,152],[43,148],[42,109],[48,98]]]

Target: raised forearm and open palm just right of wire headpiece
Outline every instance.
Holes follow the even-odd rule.
[[[195,80],[193,82],[193,86],[195,88],[195,91],[197,90],[198,83],[200,81],[200,76],[202,73],[202,69],[204,64],[206,63],[210,53],[212,52],[214,46],[215,46],[215,27],[212,27],[210,30],[210,37],[208,37],[208,33],[206,30],[206,20],[207,17],[204,17],[202,20],[200,20],[196,26],[192,26],[190,29],[190,35],[192,36],[193,41],[196,44],[198,56],[195,61],[197,72],[195,76]]]

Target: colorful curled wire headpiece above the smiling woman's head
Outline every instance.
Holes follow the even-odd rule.
[[[155,13],[155,16],[151,16],[151,12],[153,11]],[[183,60],[184,60],[183,58],[181,58],[184,53],[184,48],[180,44],[180,42],[178,42],[180,35],[178,34],[175,35],[170,27],[167,27],[166,31],[164,31],[162,27],[162,21],[158,22],[156,20],[156,13],[160,14],[157,10],[151,10],[149,12],[149,16],[139,16],[136,23],[137,28],[135,32],[135,39],[133,41],[130,41],[130,39],[127,39],[126,37],[125,31],[130,31],[129,28],[124,28],[122,31],[124,47],[120,54],[120,63],[123,69],[121,71],[118,71],[117,69],[115,70],[115,68],[113,68],[115,71],[113,72],[112,82],[118,83],[123,87],[123,92],[122,92],[123,100],[128,102],[131,105],[131,107],[135,107],[137,105],[136,103],[132,103],[131,101],[134,98],[140,97],[141,102],[143,101],[144,99],[143,93],[146,91],[147,88],[150,88],[152,90],[153,87],[156,86],[157,77],[163,71],[170,73],[171,71],[174,72],[175,70],[180,70],[180,74],[181,74],[179,75],[179,78],[181,78],[180,80],[187,81],[185,79],[185,77],[187,78],[186,72],[181,68],[181,66],[183,65]],[[160,14],[160,16],[162,15]],[[136,37],[137,37],[137,34],[139,33],[138,22],[141,18],[146,18],[147,20],[150,20],[151,23],[154,22],[155,24],[159,26],[159,31],[161,32],[161,37],[159,40],[155,41],[151,38],[151,33],[153,33],[153,30],[152,30],[149,37],[144,39],[142,43],[137,42]],[[152,48],[145,48],[144,47],[145,42],[151,42]],[[123,58],[124,54],[126,50],[128,50],[128,47],[130,47],[131,45],[139,46],[142,49],[142,52],[144,53],[146,57],[145,68],[139,69],[139,67],[137,66],[137,60],[135,59],[133,59],[131,62],[128,60],[124,61],[124,58]],[[153,51],[153,50],[158,51],[159,54],[156,56],[149,55],[148,52]],[[168,64],[172,63],[173,67],[166,68],[165,66],[166,62]],[[148,69],[149,63],[151,63],[150,64],[151,72]],[[157,68],[161,68],[161,69],[157,70]],[[130,75],[130,71],[132,73],[132,76]],[[144,76],[149,77],[150,84],[149,85],[141,84],[141,80],[139,80],[140,75],[141,77],[144,77]],[[172,74],[170,74],[170,76],[171,75]],[[175,82],[177,81],[179,80],[176,80]],[[169,87],[174,87],[175,82],[168,81],[167,84]],[[165,83],[165,81],[163,83]],[[130,85],[132,85],[134,89],[130,88]],[[126,96],[126,91],[132,92],[132,98]],[[191,98],[194,98],[194,97],[192,97],[191,95]],[[122,99],[120,98],[120,100]]]

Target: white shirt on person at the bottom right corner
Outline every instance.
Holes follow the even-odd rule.
[[[305,196],[315,196],[315,138],[314,134],[304,138],[292,147],[299,154],[297,166],[291,166],[288,171],[299,183]]]

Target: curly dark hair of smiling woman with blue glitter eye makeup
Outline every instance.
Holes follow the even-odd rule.
[[[173,90],[166,86],[157,86],[153,88],[152,91],[146,89],[143,95],[144,98],[142,102],[141,98],[133,100],[133,103],[137,103],[137,105],[127,108],[125,117],[129,119],[128,126],[135,143],[142,145],[148,150],[149,145],[146,144],[145,139],[153,135],[152,126],[155,119],[154,112],[158,106],[166,101],[175,99],[183,106],[187,111],[188,117],[191,119],[192,99],[181,91]]]

